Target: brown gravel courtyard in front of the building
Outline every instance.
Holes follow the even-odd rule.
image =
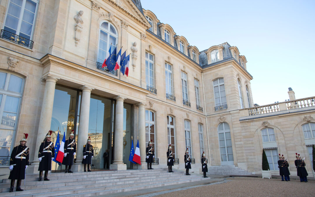
[[[228,182],[175,191],[169,196],[315,196],[315,182],[281,181],[249,177],[227,178]]]

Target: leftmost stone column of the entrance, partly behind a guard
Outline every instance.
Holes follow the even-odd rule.
[[[37,132],[37,141],[36,141],[36,148],[34,151],[34,158],[33,164],[31,165],[32,168],[27,173],[33,171],[33,173],[37,173],[39,161],[37,159],[38,150],[43,142],[46,134],[50,130],[51,125],[51,116],[53,113],[53,105],[54,105],[54,94],[55,94],[55,86],[57,82],[57,78],[54,77],[46,77],[46,84],[45,84],[45,92],[43,97],[43,104],[42,110],[40,114],[39,124],[38,124],[38,132]]]

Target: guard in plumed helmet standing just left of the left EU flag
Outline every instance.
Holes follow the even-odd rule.
[[[51,170],[51,161],[55,157],[55,149],[54,149],[54,143],[50,142],[51,140],[51,133],[52,131],[49,131],[44,139],[44,142],[41,143],[38,151],[38,160],[39,160],[39,179],[38,181],[42,181],[42,175],[43,171],[45,171],[44,175],[44,181],[49,181],[48,177],[48,171]]]

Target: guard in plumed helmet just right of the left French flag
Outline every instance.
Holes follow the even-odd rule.
[[[73,159],[74,155],[76,155],[77,152],[77,144],[76,140],[74,139],[74,134],[73,131],[69,134],[69,139],[66,140],[65,142],[65,152],[64,152],[64,159],[62,160],[62,164],[66,165],[66,171],[65,173],[72,173],[71,171],[71,166],[73,165]]]

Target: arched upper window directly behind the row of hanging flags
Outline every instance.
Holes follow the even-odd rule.
[[[103,63],[106,57],[106,53],[109,50],[110,46],[112,46],[113,51],[117,43],[118,43],[117,30],[112,24],[108,22],[103,22],[100,25],[100,38],[97,61]]]

